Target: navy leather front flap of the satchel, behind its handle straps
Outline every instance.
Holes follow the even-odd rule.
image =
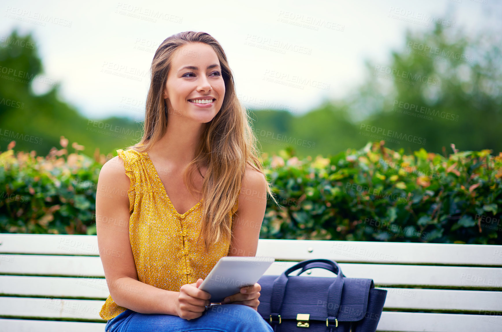
[[[262,286],[258,312],[269,320],[272,287],[277,275],[264,275],[258,280]],[[281,308],[282,319],[296,319],[298,313],[310,314],[309,320],[326,320],[328,288],[334,277],[289,276],[286,294]],[[342,296],[337,319],[357,321],[364,318],[368,306],[369,290],[374,287],[372,279],[343,278]]]

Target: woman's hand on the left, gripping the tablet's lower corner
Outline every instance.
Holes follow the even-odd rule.
[[[181,318],[190,320],[202,316],[206,305],[211,304],[211,294],[198,287],[204,281],[199,278],[194,283],[187,283],[180,287],[176,311]]]

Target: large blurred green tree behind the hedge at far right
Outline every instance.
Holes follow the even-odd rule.
[[[362,123],[371,129],[426,139],[428,151],[441,153],[454,143],[460,150],[496,154],[502,151],[500,36],[469,38],[447,29],[436,25],[433,31],[408,31],[389,65],[367,61],[366,83],[351,107],[364,107],[369,116]],[[409,152],[424,145],[401,140],[388,146]]]

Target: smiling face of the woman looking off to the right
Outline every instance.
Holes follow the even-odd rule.
[[[178,48],[164,89],[168,117],[176,115],[199,123],[209,122],[220,110],[224,96],[225,83],[212,47],[189,43]]]

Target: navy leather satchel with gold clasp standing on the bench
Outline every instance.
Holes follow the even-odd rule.
[[[300,276],[316,267],[337,276]],[[387,290],[374,288],[372,279],[347,278],[330,259],[304,260],[279,276],[264,275],[258,283],[258,312],[276,332],[374,332],[387,296]]]

